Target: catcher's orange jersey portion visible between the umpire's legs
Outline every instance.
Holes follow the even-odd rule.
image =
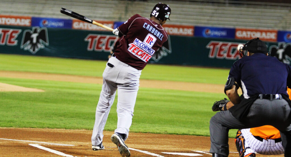
[[[279,130],[274,128],[274,126],[270,126],[270,125],[251,128],[250,132],[254,136],[260,136],[265,140],[281,138]]]

